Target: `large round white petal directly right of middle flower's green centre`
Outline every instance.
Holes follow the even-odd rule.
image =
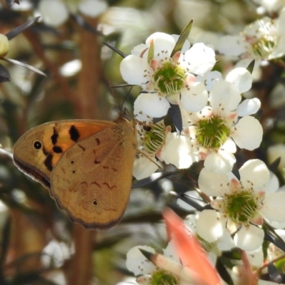
[[[259,147],[263,130],[259,120],[251,116],[245,116],[234,126],[232,139],[240,148],[254,150]]]

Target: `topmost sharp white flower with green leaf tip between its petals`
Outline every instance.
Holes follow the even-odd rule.
[[[196,75],[209,71],[216,62],[212,48],[204,43],[185,41],[182,51],[172,55],[177,35],[153,33],[145,44],[136,46],[120,63],[120,73],[129,84],[141,86],[137,101],[142,113],[154,118],[167,114],[170,103],[181,103],[192,112],[207,104],[204,84],[195,82]]]

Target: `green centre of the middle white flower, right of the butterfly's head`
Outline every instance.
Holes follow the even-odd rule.
[[[222,118],[212,116],[197,123],[197,140],[203,147],[217,149],[229,137],[229,127]]]

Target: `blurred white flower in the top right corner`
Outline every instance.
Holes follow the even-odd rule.
[[[224,36],[218,51],[227,56],[257,60],[281,58],[285,53],[285,9],[279,18],[264,17],[246,26],[239,36]]]

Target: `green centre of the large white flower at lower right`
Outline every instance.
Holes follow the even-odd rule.
[[[250,190],[224,196],[225,211],[234,222],[247,223],[257,210],[257,199]]]

